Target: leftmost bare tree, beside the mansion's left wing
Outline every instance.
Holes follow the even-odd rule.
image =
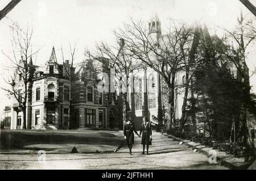
[[[23,31],[19,28],[18,24],[13,23],[11,31],[13,32],[13,37],[11,40],[13,55],[10,56],[6,53],[5,56],[11,62],[11,69],[15,71],[14,76],[11,76],[6,83],[9,85],[10,89],[2,88],[7,92],[10,98],[15,98],[18,102],[20,110],[23,112],[23,129],[30,127],[30,124],[27,123],[27,101],[31,99],[30,91],[32,89],[32,78],[34,76],[35,66],[32,64],[32,56],[38,53],[39,49],[32,52],[31,50],[31,41],[32,41],[32,28],[27,28],[26,31]],[[16,53],[16,52],[20,53]],[[21,60],[19,59],[21,57]],[[22,85],[23,88],[18,90],[18,85]]]

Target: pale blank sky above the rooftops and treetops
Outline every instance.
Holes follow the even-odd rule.
[[[1,0],[3,9],[10,0]],[[250,0],[256,5],[256,0]],[[68,59],[69,43],[79,49],[76,61],[81,62],[85,48],[93,49],[97,42],[113,43],[113,31],[128,22],[129,18],[148,21],[158,15],[162,27],[168,27],[169,19],[183,20],[187,23],[205,23],[210,33],[221,34],[217,26],[232,30],[237,16],[243,12],[246,18],[256,20],[255,16],[238,0],[22,0],[0,22],[0,85],[6,87],[3,78],[10,75],[6,65],[8,58],[2,53],[11,54],[11,21],[26,29],[33,27],[32,50],[40,51],[32,57],[34,64],[43,65],[55,47],[57,60]],[[249,69],[256,66],[256,44],[250,47],[247,56]],[[256,75],[250,79],[256,92]],[[5,91],[0,90],[0,113],[9,100]]]

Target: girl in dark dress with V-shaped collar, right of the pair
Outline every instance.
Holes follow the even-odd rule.
[[[145,146],[147,145],[147,154],[148,154],[148,148],[149,145],[151,145],[151,141],[152,141],[152,129],[150,127],[150,123],[148,122],[147,117],[143,117],[143,123],[141,126],[141,131],[139,132],[139,136],[141,136],[142,134],[142,138],[141,138],[141,144],[143,145],[143,152],[142,154],[144,154],[145,152]]]

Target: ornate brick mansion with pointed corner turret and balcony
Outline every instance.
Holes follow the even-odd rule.
[[[27,93],[26,128],[118,128],[117,100],[110,100],[111,95],[97,91],[97,71],[93,70],[93,60],[71,66],[68,60],[63,64],[57,63],[54,47],[44,66],[33,65],[35,69],[30,73],[33,76]],[[15,82],[15,89],[24,96],[23,81],[19,75],[15,75]],[[23,129],[21,105],[16,99],[12,101],[13,104],[5,108],[5,128]]]

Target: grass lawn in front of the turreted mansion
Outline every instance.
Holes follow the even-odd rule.
[[[79,153],[113,152],[122,142],[122,133],[115,131],[1,130],[2,153],[70,153],[73,146]]]

